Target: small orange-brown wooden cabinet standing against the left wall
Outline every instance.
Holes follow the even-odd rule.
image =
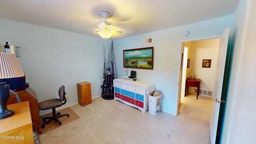
[[[80,82],[77,83],[78,103],[81,106],[92,103],[91,83]]]

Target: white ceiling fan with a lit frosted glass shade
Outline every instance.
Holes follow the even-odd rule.
[[[112,25],[112,22],[107,21],[106,18],[111,16],[109,12],[102,11],[100,12],[100,15],[104,18],[104,20],[100,20],[98,22],[98,28],[96,29],[96,32],[104,38],[105,40],[110,38],[114,32],[122,33],[122,31],[116,31]]]

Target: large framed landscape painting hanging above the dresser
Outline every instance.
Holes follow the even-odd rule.
[[[153,70],[153,47],[123,50],[124,68]]]

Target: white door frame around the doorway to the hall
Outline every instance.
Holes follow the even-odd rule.
[[[194,41],[200,41],[200,40],[209,40],[209,39],[216,39],[220,38],[221,35],[219,36],[209,36],[209,37],[203,37],[203,38],[195,38],[195,39],[188,39],[188,40],[181,40],[180,41],[180,47],[179,47],[179,59],[178,59],[178,76],[177,76],[177,89],[176,89],[176,105],[175,105],[175,111],[176,111],[176,116],[178,115],[178,105],[179,105],[179,95],[180,95],[180,82],[182,82],[182,78],[180,76],[182,75],[182,71],[180,70],[180,66],[182,65],[182,51],[183,51],[183,43],[184,42],[194,42]]]

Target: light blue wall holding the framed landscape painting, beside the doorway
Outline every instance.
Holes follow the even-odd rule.
[[[123,68],[123,50],[134,48],[154,47],[154,69],[132,69],[136,70],[137,77],[141,81],[152,82],[156,90],[163,93],[161,109],[164,112],[176,115],[177,87],[180,72],[180,55],[182,40],[191,40],[195,38],[204,38],[210,36],[219,36],[226,27],[232,27],[233,15],[188,24],[176,28],[170,28],[148,34],[132,36],[114,40],[114,52],[118,77],[124,76]],[[183,33],[189,30],[190,34],[184,36]],[[144,44],[145,38],[152,37],[152,44]],[[165,73],[169,77],[165,77]]]

